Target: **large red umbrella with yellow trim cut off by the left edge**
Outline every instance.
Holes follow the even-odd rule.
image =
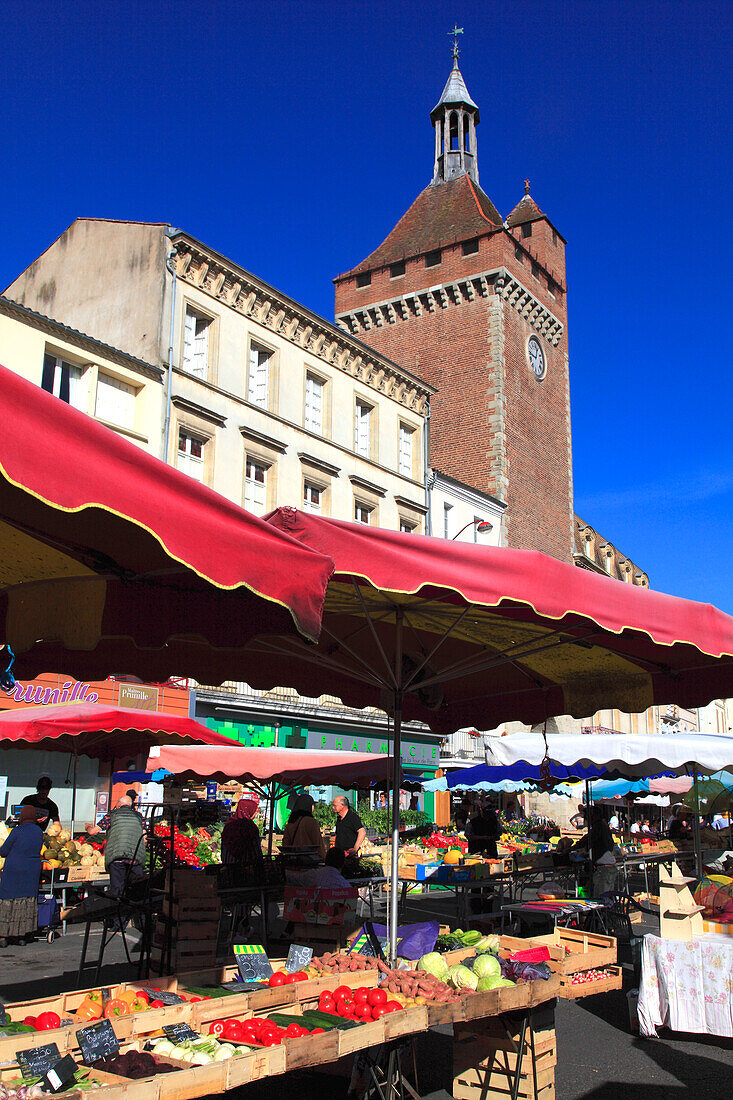
[[[25,675],[215,683],[258,635],[318,636],[328,559],[3,367],[0,389],[0,645]]]

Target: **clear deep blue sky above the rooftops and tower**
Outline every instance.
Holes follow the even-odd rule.
[[[0,285],[167,221],[332,317],[429,182],[455,20],[482,187],[568,240],[576,508],[733,613],[729,6],[4,0]]]

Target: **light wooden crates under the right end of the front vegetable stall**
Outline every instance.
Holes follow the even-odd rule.
[[[505,1100],[512,1094],[507,1076],[517,1063],[518,1032],[506,1032],[489,1021],[488,1026],[457,1024],[453,1028],[453,1088],[456,1100]],[[532,1052],[525,1040],[518,1096],[523,1100],[553,1100],[557,1042],[555,1030],[535,1031],[535,1091]]]

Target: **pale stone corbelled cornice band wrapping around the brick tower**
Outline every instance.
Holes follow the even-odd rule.
[[[381,329],[385,324],[411,321],[423,314],[459,309],[477,298],[489,298],[492,294],[500,296],[549,343],[557,346],[565,331],[562,321],[505,267],[494,267],[478,275],[467,275],[423,290],[409,290],[385,301],[361,306],[339,314],[337,321],[353,336],[357,332]]]

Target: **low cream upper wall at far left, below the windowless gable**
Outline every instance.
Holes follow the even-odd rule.
[[[8,316],[0,306],[0,363],[40,386],[46,354],[81,369],[83,400],[77,407],[91,416],[96,411],[100,375],[132,386],[135,389],[132,427],[123,427],[110,420],[102,422],[160,458],[164,399],[161,378],[150,377],[134,366],[118,361],[103,349],[95,350],[89,346],[89,342],[75,340],[70,334],[56,331],[45,322]]]

